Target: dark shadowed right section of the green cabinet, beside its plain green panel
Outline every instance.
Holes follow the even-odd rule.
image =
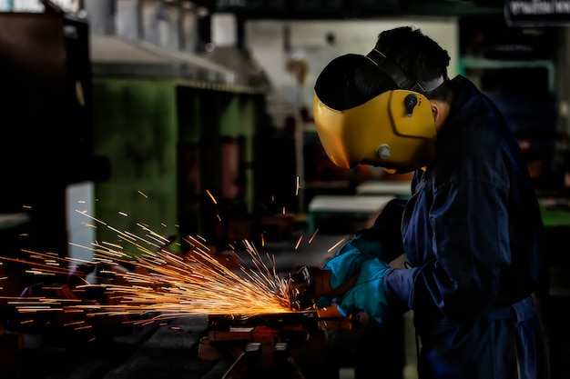
[[[263,96],[187,86],[177,94],[180,232],[221,244],[248,238]]]

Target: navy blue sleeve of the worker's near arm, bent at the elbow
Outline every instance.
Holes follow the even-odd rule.
[[[504,195],[477,182],[453,183],[435,194],[424,225],[432,235],[418,247],[426,251],[422,264],[385,277],[391,305],[431,311],[435,306],[453,318],[496,303],[500,270],[510,259]]]

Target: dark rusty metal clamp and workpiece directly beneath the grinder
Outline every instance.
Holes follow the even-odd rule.
[[[224,378],[328,377],[327,328],[316,310],[249,317],[209,315],[198,359],[234,362]],[[331,373],[332,374],[332,373]]]

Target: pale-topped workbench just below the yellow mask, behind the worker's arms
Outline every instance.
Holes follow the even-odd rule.
[[[372,220],[394,195],[318,194],[310,199],[307,214],[308,233],[317,230],[319,217],[343,215],[347,218],[367,217]]]

